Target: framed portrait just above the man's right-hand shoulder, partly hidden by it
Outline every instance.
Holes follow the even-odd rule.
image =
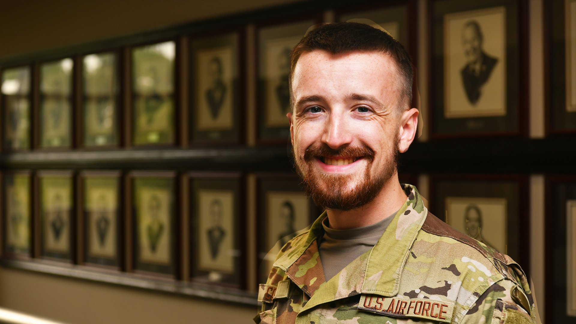
[[[524,176],[431,176],[429,210],[529,272],[529,220]]]

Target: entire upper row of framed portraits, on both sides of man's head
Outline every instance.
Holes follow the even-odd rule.
[[[336,20],[367,18],[415,56],[414,6],[414,1],[401,1],[348,7],[336,12]],[[528,122],[526,6],[514,0],[429,3],[433,137],[522,134]],[[574,131],[576,0],[546,6],[554,17],[547,33],[554,44],[549,53],[554,58],[550,59],[551,80],[545,80],[554,84],[547,109],[548,130]],[[316,14],[256,25],[260,143],[289,138],[290,50],[319,22],[320,14]],[[249,89],[245,35],[245,26],[240,26],[3,66],[2,147],[10,151],[181,142],[242,144]],[[190,69],[181,69],[184,65]],[[183,79],[190,85],[181,91]],[[187,95],[190,105],[187,114],[181,114],[180,101]],[[185,131],[180,132],[180,127]],[[187,138],[180,138],[181,134]]]

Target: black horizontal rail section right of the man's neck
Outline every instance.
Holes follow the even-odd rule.
[[[573,173],[576,138],[458,138],[414,143],[400,172],[427,174]]]

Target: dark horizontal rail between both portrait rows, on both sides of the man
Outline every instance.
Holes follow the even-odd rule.
[[[400,156],[411,174],[573,173],[576,138],[466,138],[415,142]],[[234,148],[117,149],[0,154],[3,169],[175,169],[177,171],[291,171],[289,144]]]

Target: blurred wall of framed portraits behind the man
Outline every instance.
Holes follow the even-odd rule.
[[[541,322],[576,323],[576,0],[0,0],[0,307],[251,323],[321,213],[292,168],[290,50],[358,18],[414,60],[400,181],[520,263]]]

